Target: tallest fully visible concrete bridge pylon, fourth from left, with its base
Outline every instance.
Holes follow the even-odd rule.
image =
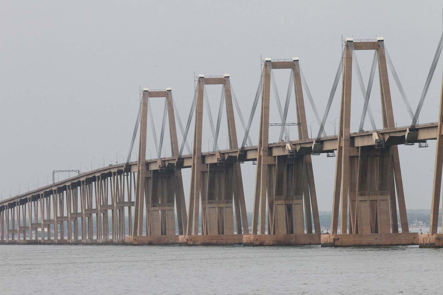
[[[405,136],[384,138],[375,131],[373,146],[357,148],[351,144],[350,111],[354,50],[377,51],[383,128],[395,127],[384,39],[354,42],[352,38],[347,38],[331,234],[322,236],[322,246],[416,244],[418,235],[409,233],[400,159],[396,146],[406,141]],[[402,229],[400,234],[397,201]],[[338,234],[339,220],[340,234]]]

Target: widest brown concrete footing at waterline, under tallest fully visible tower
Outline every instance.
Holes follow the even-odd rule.
[[[322,247],[418,245],[418,233],[322,234]]]

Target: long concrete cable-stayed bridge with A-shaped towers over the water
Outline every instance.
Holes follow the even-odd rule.
[[[127,161],[91,170],[68,179],[36,188],[0,202],[0,243],[4,244],[130,244],[130,245],[416,245],[443,247],[437,234],[440,186],[443,170],[443,88],[439,120],[418,124],[427,88],[443,48],[443,34],[432,62],[424,91],[413,112],[383,38],[343,42],[337,74],[323,118],[312,99],[298,58],[264,59],[249,120],[245,122],[231,87],[230,76],[196,77],[197,85],[187,124],[183,127],[175,107],[172,89],[141,92],[139,113]],[[358,50],[373,50],[373,64],[367,88],[361,78]],[[357,72],[364,107],[359,131],[350,132],[352,68]],[[369,97],[378,67],[382,124],[375,128]],[[391,70],[412,123],[395,126],[389,88]],[[274,70],[291,71],[288,94],[282,107],[276,91]],[[327,121],[335,90],[342,78],[338,134],[327,136]],[[206,85],[222,86],[216,123],[212,119]],[[274,90],[281,123],[269,122],[271,88]],[[296,114],[287,123],[292,88]],[[319,132],[308,136],[304,97],[313,108]],[[150,100],[164,99],[163,122],[158,140],[152,124]],[[260,107],[258,144],[249,132]],[[213,150],[202,151],[203,112],[208,112]],[[228,149],[218,149],[223,107],[228,126]],[[245,131],[238,142],[236,117]],[[373,130],[364,130],[366,115]],[[187,135],[194,119],[192,151],[184,154]],[[152,123],[152,122],[151,122]],[[269,143],[269,126],[280,126],[280,140]],[[285,126],[298,128],[298,139],[289,138]],[[177,125],[182,134],[179,146]],[[169,126],[171,156],[161,157],[166,126]],[[137,161],[130,156],[139,131]],[[155,142],[157,157],[146,159],[147,140]],[[429,234],[410,233],[406,215],[398,145],[427,146],[437,141],[431,230]],[[335,157],[331,233],[321,234],[315,192],[312,157]],[[253,161],[256,181],[252,224],[246,217],[241,164]],[[186,208],[182,170],[191,169]],[[397,204],[401,232],[398,226]],[[341,232],[338,230],[340,225]]]

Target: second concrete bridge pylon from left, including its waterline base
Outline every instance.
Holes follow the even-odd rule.
[[[241,244],[242,234],[249,233],[238,157],[232,155],[224,157],[217,151],[214,154],[216,161],[205,163],[201,157],[205,85],[217,84],[222,85],[224,89],[229,149],[238,149],[229,74],[210,77],[199,75],[196,88],[188,219],[186,234],[180,236],[182,245]],[[214,136],[218,137],[218,134]],[[214,138],[214,141],[216,140],[217,138]],[[201,235],[199,235],[200,213]]]

